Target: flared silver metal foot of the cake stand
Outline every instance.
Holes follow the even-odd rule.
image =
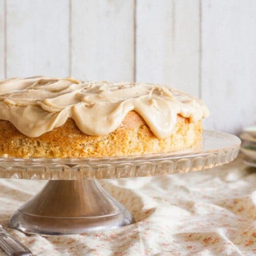
[[[96,180],[52,180],[10,219],[25,233],[75,234],[129,225],[134,218]]]

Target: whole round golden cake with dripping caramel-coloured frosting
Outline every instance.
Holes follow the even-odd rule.
[[[147,83],[0,81],[0,155],[87,158],[180,151],[202,140],[203,101]]]

